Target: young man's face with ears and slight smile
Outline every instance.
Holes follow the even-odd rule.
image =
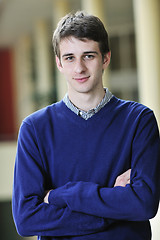
[[[75,37],[62,39],[57,67],[68,83],[69,96],[77,93],[97,93],[102,86],[103,70],[109,65],[110,53],[102,58],[98,42]]]

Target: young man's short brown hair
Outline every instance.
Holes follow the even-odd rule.
[[[59,21],[52,40],[54,52],[58,58],[60,58],[60,41],[70,36],[98,42],[102,57],[109,52],[108,33],[101,20],[96,16],[78,11],[67,14]]]

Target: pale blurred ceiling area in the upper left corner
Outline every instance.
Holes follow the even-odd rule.
[[[51,18],[51,0],[0,0],[0,46],[14,44],[39,18]]]

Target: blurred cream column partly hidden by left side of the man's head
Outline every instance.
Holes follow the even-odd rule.
[[[70,12],[68,0],[53,0],[53,28],[59,20]],[[67,92],[67,83],[64,75],[56,68],[57,99],[61,100]]]

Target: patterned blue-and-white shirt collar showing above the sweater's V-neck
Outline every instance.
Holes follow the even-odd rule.
[[[105,96],[102,99],[102,101],[97,105],[97,107],[89,110],[89,111],[83,111],[78,109],[69,99],[68,94],[66,94],[63,98],[63,102],[66,104],[66,106],[73,111],[78,116],[84,118],[85,120],[91,118],[94,114],[96,114],[101,108],[103,108],[112,98],[112,93],[108,90],[108,88],[105,88]]]

